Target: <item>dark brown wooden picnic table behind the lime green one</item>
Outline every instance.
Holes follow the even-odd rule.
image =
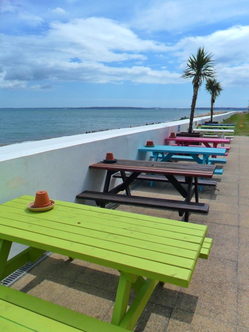
[[[212,178],[216,168],[215,165],[118,159],[114,163],[101,161],[90,165],[89,168],[107,171],[103,193],[84,191],[78,194],[77,198],[95,200],[97,205],[101,207],[105,207],[107,202],[115,202],[153,208],[168,208],[179,211],[180,216],[185,213],[184,221],[188,221],[190,212],[208,213],[209,205],[199,203],[198,178]],[[121,173],[123,182],[110,190],[111,178],[117,172]],[[127,172],[131,173],[127,174]],[[182,202],[179,200],[131,196],[129,186],[142,173],[165,176],[185,200]],[[178,176],[185,178],[187,189],[179,181]],[[117,195],[124,190],[127,196]],[[195,202],[191,202],[194,195]]]

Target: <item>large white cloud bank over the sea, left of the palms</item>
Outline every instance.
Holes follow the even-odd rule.
[[[54,22],[45,35],[2,35],[1,40],[0,62],[6,81],[167,83],[179,77],[142,66],[148,52],[166,49],[163,44],[141,39],[124,25],[106,18]],[[130,66],[123,64],[126,61],[131,62]],[[141,65],[134,66],[138,62]]]

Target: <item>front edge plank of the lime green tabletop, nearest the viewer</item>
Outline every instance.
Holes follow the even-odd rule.
[[[44,250],[50,250],[69,257],[86,260],[95,264],[122,270],[128,273],[141,275],[155,280],[173,283],[187,287],[192,271],[168,264],[131,257],[123,253],[90,247],[63,239],[51,239],[49,235],[33,234],[32,231],[13,229],[1,225],[0,237],[17,243],[30,245]]]

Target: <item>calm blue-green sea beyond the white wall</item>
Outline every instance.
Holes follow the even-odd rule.
[[[199,115],[204,113],[202,110]],[[186,109],[0,109],[0,146],[167,122],[189,117],[189,114],[190,111]]]

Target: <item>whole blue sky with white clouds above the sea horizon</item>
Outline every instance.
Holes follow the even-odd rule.
[[[247,107],[248,17],[248,0],[0,0],[0,108],[189,108],[181,75],[202,46],[215,107]]]

